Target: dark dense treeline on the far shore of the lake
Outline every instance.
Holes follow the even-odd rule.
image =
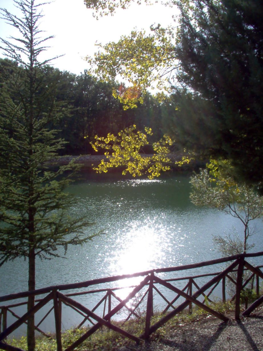
[[[15,61],[1,59],[0,83],[12,88],[14,81],[22,81],[24,70]],[[121,102],[112,95],[113,88],[119,88],[117,83],[99,81],[87,71],[75,75],[48,65],[40,70],[39,77],[36,77],[39,86],[42,87],[45,83],[53,87],[53,93],[46,96],[47,106],[59,102],[60,117],[54,119],[48,128],[56,129],[58,137],[67,142],[60,151],[61,154],[92,153],[89,140],[94,135],[105,137],[108,133],[116,134],[134,124],[139,130],[145,126],[151,127],[154,132],[153,141],[162,137],[164,121],[170,115],[171,107],[164,102],[160,103],[150,93],[137,108],[124,110]],[[13,91],[13,100],[19,100],[17,94],[17,91]],[[84,138],[86,136],[88,138]],[[151,152],[150,147],[144,151]]]

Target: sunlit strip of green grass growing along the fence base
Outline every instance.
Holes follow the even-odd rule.
[[[234,303],[226,302],[206,302],[212,309],[223,314],[234,311]],[[187,311],[176,315],[174,318],[170,319],[165,325],[160,327],[155,333],[151,335],[151,340],[158,341],[169,333],[173,332],[178,328],[178,326],[198,321],[203,317],[206,317],[209,313],[198,308],[193,307],[192,314],[188,314]],[[163,314],[156,312],[151,319],[151,325],[155,324],[160,318],[163,317]],[[122,329],[128,331],[129,333],[140,336],[144,332],[145,326],[145,317],[142,316],[139,319],[130,319],[123,324],[123,322],[114,322],[113,324],[121,327]],[[123,324],[123,325],[122,325]],[[62,334],[62,348],[65,349],[71,345],[74,341],[80,338],[87,328],[81,329],[70,329],[65,331]],[[36,347],[35,351],[56,351],[56,340],[54,335],[51,335],[51,338],[48,339],[44,336],[39,336],[36,338]],[[111,331],[106,327],[102,327],[97,330],[92,336],[90,336],[85,342],[83,342],[76,350],[78,351],[114,351],[119,349],[121,346],[128,345],[132,341],[124,338],[117,332]],[[12,346],[19,347],[20,349],[27,350],[27,339],[26,337],[21,337],[20,339],[9,339],[8,344]]]

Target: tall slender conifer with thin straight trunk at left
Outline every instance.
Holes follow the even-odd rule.
[[[60,256],[58,247],[78,245],[90,237],[82,229],[89,223],[67,215],[73,199],[64,192],[69,176],[57,180],[75,166],[50,171],[45,164],[64,146],[48,126],[66,112],[56,103],[59,74],[47,79],[49,61],[39,61],[47,49],[40,38],[35,0],[14,0],[21,18],[1,9],[2,19],[19,31],[11,41],[1,39],[2,50],[15,64],[2,69],[0,94],[0,265],[16,257],[28,259],[28,290],[35,290],[35,258]],[[10,67],[11,66],[11,67]],[[16,67],[17,66],[17,67]],[[12,74],[10,74],[12,69]],[[6,75],[6,79],[5,79]],[[48,78],[51,76],[49,75]],[[28,298],[28,310],[34,297]],[[28,319],[28,350],[35,347],[34,317]]]

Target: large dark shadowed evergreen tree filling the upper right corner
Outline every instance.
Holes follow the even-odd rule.
[[[197,152],[198,140],[208,155],[231,160],[236,179],[257,184],[263,176],[263,4],[257,0],[193,3],[191,12],[179,5],[177,79],[192,92],[191,98],[183,96],[189,106],[189,113],[183,112],[188,125],[202,123],[193,128],[190,138],[182,134],[181,140],[192,142]],[[204,107],[194,113],[200,100]],[[181,120],[178,113],[175,124]],[[202,130],[214,142],[207,145],[205,136],[202,142],[198,136]]]

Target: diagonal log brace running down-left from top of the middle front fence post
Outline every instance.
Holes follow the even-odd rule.
[[[149,276],[145,277],[145,278],[142,280],[142,282],[141,282],[139,285],[137,285],[137,286],[133,289],[133,291],[131,291],[131,292],[128,294],[128,296],[126,297],[126,299],[122,300],[122,302],[119,303],[119,305],[117,305],[116,307],[114,307],[114,309],[112,309],[112,310],[110,311],[110,313],[104,317],[104,319],[107,320],[107,318],[114,316],[115,313],[117,313],[118,311],[120,311],[120,310],[122,309],[122,307],[123,307],[130,299],[132,299],[132,298],[136,295],[136,293],[137,293],[138,291],[140,291],[140,290],[143,288],[144,285],[146,285],[146,284],[149,282],[149,279],[150,279]],[[91,327],[85,334],[83,334],[78,340],[76,340],[72,345],[70,345],[65,351],[72,351],[72,350],[74,350],[77,346],[79,346],[80,344],[82,344],[83,341],[85,341],[90,335],[92,335],[96,330],[98,330],[99,327],[100,327],[100,325],[101,325],[100,323],[95,324],[95,325],[94,325],[93,327]]]

